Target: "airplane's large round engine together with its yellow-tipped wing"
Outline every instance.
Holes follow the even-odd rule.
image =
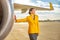
[[[12,0],[0,0],[0,40],[3,40],[10,32],[13,26],[13,13],[14,10],[22,10],[22,13],[26,12],[30,8],[36,10],[54,10],[52,3],[50,3],[50,9],[41,8],[36,6],[22,5],[22,4],[11,4]],[[12,6],[14,5],[14,7]]]

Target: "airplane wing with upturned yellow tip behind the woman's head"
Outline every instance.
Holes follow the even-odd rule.
[[[48,10],[48,11],[54,10],[52,3],[49,3],[49,4],[50,4],[50,8],[42,8],[42,7],[36,7],[36,6],[30,6],[30,5],[22,5],[22,4],[14,3],[14,10],[21,9],[22,13],[26,12],[30,8],[35,8],[36,10]]]

